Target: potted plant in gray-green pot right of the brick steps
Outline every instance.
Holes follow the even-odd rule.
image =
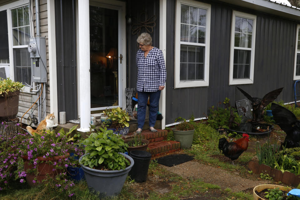
[[[188,122],[184,118],[179,117],[175,120],[175,122],[177,121],[179,121],[179,124],[175,128],[172,128],[175,141],[180,142],[181,149],[191,148],[195,132],[194,125],[192,124],[193,119],[191,118]]]

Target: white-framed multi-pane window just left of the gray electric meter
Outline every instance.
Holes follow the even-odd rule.
[[[15,81],[31,85],[29,5],[11,9],[12,53]]]

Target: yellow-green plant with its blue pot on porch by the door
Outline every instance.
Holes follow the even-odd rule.
[[[113,129],[114,133],[120,135],[127,135],[129,132],[129,115],[120,107],[112,108],[111,111],[103,111],[104,115],[108,116],[106,121],[109,128]]]

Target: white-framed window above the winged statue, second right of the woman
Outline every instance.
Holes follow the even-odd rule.
[[[232,12],[229,85],[252,84],[256,16]]]

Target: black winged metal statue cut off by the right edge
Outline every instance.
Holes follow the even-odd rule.
[[[286,148],[299,147],[300,122],[294,113],[276,103],[272,103],[271,110],[275,123],[287,134],[283,145]]]

